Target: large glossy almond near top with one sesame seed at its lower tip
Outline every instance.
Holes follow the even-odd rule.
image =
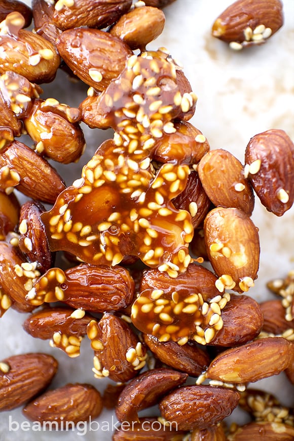
[[[76,28],[61,33],[57,48],[70,69],[98,91],[118,77],[133,53],[117,37],[98,29]]]

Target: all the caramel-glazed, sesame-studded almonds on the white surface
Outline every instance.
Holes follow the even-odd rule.
[[[94,381],[47,390],[56,359],[12,354],[0,410],[60,428],[115,408],[130,428],[114,440],[290,440],[292,410],[250,383],[294,382],[294,272],[269,282],[276,300],[247,292],[260,266],[254,193],[273,215],[291,208],[294,144],[271,129],[244,164],[210,150],[189,122],[197,96],[182,68],[146,50],[172,1],[0,6],[0,316],[29,313],[24,330],[71,358],[88,341],[94,377],[117,383],[103,396]],[[237,50],[265,43],[283,24],[281,2],[268,3],[237,1],[212,35]],[[78,108],[42,99],[58,69],[89,86]],[[114,135],[66,187],[51,163],[79,161],[81,122]],[[138,416],[156,404],[160,417]],[[227,428],[237,406],[252,422]]]

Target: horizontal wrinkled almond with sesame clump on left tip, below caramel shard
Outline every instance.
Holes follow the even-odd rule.
[[[133,296],[134,281],[125,268],[81,264],[66,271],[51,268],[34,283],[27,299],[33,305],[62,301],[97,313],[125,308]]]

